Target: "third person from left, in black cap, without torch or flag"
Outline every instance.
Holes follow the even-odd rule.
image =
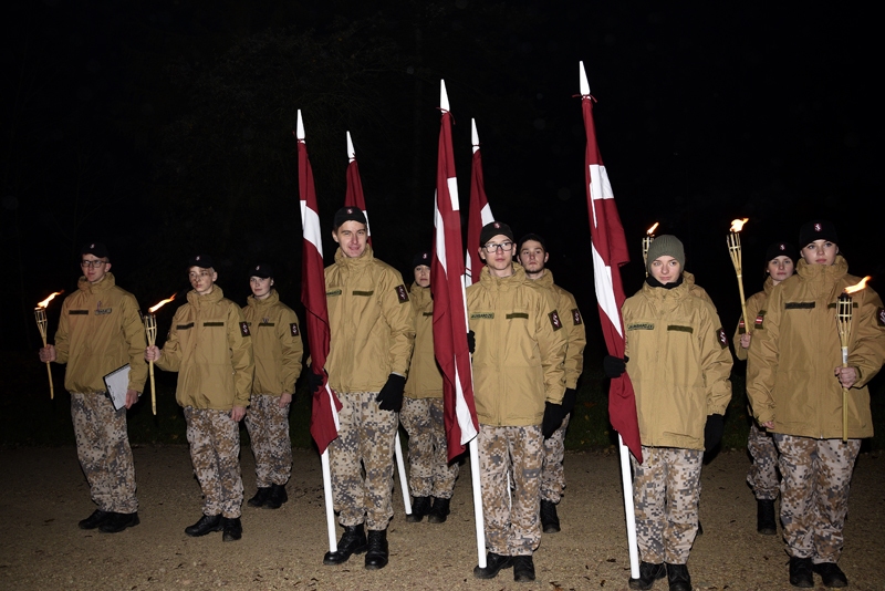
[[[292,473],[289,407],[301,375],[304,346],[298,315],[280,301],[273,289],[270,265],[256,265],[249,273],[252,294],[242,313],[252,335],[256,373],[246,427],[256,456],[258,491],[248,504],[279,509],[289,500],[285,492]]]

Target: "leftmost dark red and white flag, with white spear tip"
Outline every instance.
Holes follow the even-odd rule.
[[[298,188],[301,198],[302,267],[301,303],[306,312],[308,346],[311,351],[311,370],[323,376],[323,390],[313,396],[311,412],[311,436],[320,453],[339,436],[339,411],[341,402],[329,387],[325,360],[329,356],[329,310],[325,301],[325,274],[323,273],[323,240],[320,229],[320,212],[316,207],[316,189],[313,169],[304,143],[304,125],[298,112]]]

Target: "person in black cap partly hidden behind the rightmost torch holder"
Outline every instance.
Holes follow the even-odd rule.
[[[799,251],[789,242],[774,242],[766,250],[766,283],[762,291],[753,293],[747,298],[746,310],[747,319],[750,320],[750,329],[747,329],[746,320],[738,321],[735,330],[735,354],[739,360],[747,360],[747,350],[752,342],[753,326],[764,323],[766,301],[774,289],[774,286],[795,271],[795,262],[799,260]],[[752,407],[748,406],[750,414]],[[747,436],[747,450],[750,453],[752,463],[747,473],[747,484],[756,497],[756,530],[764,536],[778,533],[778,522],[774,517],[774,500],[778,498],[780,489],[780,478],[778,478],[778,448],[774,438],[769,432],[756,421],[750,425],[750,433]]]

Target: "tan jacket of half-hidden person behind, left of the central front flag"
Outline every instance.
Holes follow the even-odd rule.
[[[409,296],[415,309],[416,331],[405,395],[409,398],[441,398],[442,373],[434,356],[434,300],[430,288],[413,283]]]

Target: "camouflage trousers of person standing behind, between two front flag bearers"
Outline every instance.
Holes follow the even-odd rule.
[[[450,499],[458,463],[449,465],[442,398],[403,398],[399,422],[408,433],[408,486],[415,497]]]

